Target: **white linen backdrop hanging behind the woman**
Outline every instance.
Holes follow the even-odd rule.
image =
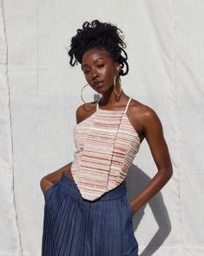
[[[204,1],[0,0],[0,255],[41,255],[40,180],[73,160],[80,65],[65,47],[84,21],[125,35],[128,96],[155,110],[174,176],[133,219],[140,254],[204,255]],[[93,99],[94,91],[84,90]],[[155,173],[144,140],[128,172],[128,197]]]

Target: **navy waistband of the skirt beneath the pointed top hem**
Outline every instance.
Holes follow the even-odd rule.
[[[79,191],[76,182],[74,179],[70,179],[67,173],[64,171],[61,179],[59,180],[59,184],[63,185],[70,193],[82,198],[82,194]],[[110,190],[109,192],[105,192],[99,199],[95,199],[94,201],[83,199],[89,202],[95,201],[109,201],[114,199],[120,199],[127,193],[126,183],[124,182],[122,185],[118,185],[114,189]]]

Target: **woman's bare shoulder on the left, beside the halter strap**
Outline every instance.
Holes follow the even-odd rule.
[[[81,104],[76,109],[76,124],[79,124],[85,118],[88,118],[96,110],[95,102],[89,102],[86,104]]]

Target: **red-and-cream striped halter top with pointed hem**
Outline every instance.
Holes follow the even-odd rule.
[[[128,104],[131,98],[128,99]],[[96,111],[74,127],[71,174],[83,199],[95,200],[126,179],[140,137],[125,111]]]

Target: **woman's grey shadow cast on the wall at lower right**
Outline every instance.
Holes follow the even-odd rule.
[[[126,182],[128,199],[134,199],[136,195],[141,192],[142,188],[148,184],[149,181],[150,178],[145,172],[142,172],[141,169],[139,169],[136,165],[131,165],[128,170]],[[141,209],[134,215],[134,231],[137,229],[141,222],[146,205],[147,204],[143,205]],[[153,212],[159,229],[157,232],[155,232],[154,237],[149,241],[148,245],[145,247],[140,256],[153,255],[153,253],[159,249],[165,239],[167,239],[168,234],[171,232],[171,223],[168,217],[167,208],[163,202],[161,192],[155,194],[155,196],[148,201],[148,205]]]

